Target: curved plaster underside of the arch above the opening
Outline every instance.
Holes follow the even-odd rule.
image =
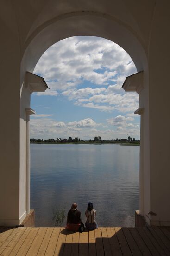
[[[41,29],[41,27],[39,28]],[[39,58],[51,45],[64,38],[75,35],[100,36],[119,44],[131,56],[138,71],[147,65],[146,49],[128,27],[122,26],[110,17],[84,13],[72,13],[62,20],[50,20],[47,27],[36,31],[22,59],[23,73],[33,71]],[[43,41],[43,44],[42,44]]]

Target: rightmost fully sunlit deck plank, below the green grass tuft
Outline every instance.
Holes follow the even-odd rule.
[[[49,244],[48,244],[46,252],[45,252],[45,256],[54,255],[56,245],[57,245],[57,241],[58,241],[58,236],[60,234],[60,229],[61,228],[54,228],[53,229],[52,235],[50,237]]]

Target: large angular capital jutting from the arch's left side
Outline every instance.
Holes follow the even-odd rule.
[[[26,72],[25,87],[30,91],[30,93],[44,92],[48,88],[48,85],[46,84],[43,77],[31,72]]]

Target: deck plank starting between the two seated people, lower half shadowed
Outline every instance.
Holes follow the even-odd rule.
[[[79,256],[88,256],[88,231],[79,233]]]

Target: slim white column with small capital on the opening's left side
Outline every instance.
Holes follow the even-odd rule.
[[[30,213],[30,115],[35,114],[31,108],[26,111],[26,214]]]

